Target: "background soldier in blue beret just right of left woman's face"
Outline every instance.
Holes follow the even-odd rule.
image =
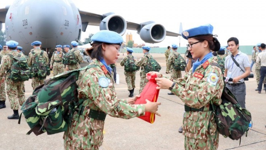
[[[121,61],[120,65],[124,66],[126,65],[125,62],[129,61],[129,60],[133,60],[135,62],[135,58],[132,55],[133,53],[133,49],[127,47],[127,55],[126,57],[123,58],[123,60]],[[125,68],[128,67],[130,68],[130,66],[125,66]],[[137,67],[136,67],[137,69]],[[126,82],[128,85],[128,91],[130,92],[130,94],[128,95],[128,97],[133,97],[134,95],[134,89],[135,89],[135,78],[136,78],[136,71],[125,71],[124,72],[125,77],[126,77]]]

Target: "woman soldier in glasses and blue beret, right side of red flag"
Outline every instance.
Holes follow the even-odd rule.
[[[212,104],[220,105],[224,87],[222,71],[211,53],[220,49],[220,43],[213,37],[212,25],[203,25],[182,32],[188,40],[187,48],[198,60],[183,77],[169,80],[156,73],[157,89],[169,89],[185,103],[183,135],[186,150],[216,150],[219,132],[212,113]]]

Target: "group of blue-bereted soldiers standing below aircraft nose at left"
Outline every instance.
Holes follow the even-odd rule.
[[[46,79],[48,72],[50,69],[53,71],[53,75],[57,75],[63,73],[64,65],[62,63],[64,53],[62,52],[62,47],[64,48],[66,53],[74,53],[76,59],[76,64],[66,65],[66,70],[76,70],[80,68],[80,63],[82,62],[83,58],[78,50],[77,46],[78,43],[76,41],[71,42],[72,49],[70,50],[69,45],[57,45],[55,51],[50,60],[49,66],[49,58],[47,52],[41,49],[41,42],[35,41],[31,43],[33,49],[30,50],[30,53],[25,56],[22,52],[22,47],[18,46],[18,42],[15,41],[8,41],[6,45],[3,46],[3,50],[0,52],[1,64],[0,64],[0,83],[1,83],[1,93],[0,93],[0,109],[6,108],[5,101],[6,101],[6,94],[8,95],[8,100],[11,105],[11,109],[13,110],[13,115],[8,116],[8,119],[19,119],[18,108],[19,105],[21,106],[25,102],[25,87],[24,81],[15,82],[9,78],[10,70],[13,62],[13,58],[11,58],[10,54],[13,57],[17,57],[19,54],[20,57],[24,57],[27,60],[28,67],[34,68],[38,62],[42,61],[43,66],[45,67],[46,74],[44,77],[40,77],[38,75],[33,76],[31,78],[32,83],[31,86],[33,90],[37,88],[39,85],[44,84],[44,80]],[[0,49],[2,46],[0,45]],[[35,69],[35,68],[34,68]],[[35,71],[35,70],[34,70]],[[81,78],[81,73],[79,74],[79,80]],[[77,83],[79,82],[77,81]],[[6,92],[5,92],[5,83],[6,83]]]

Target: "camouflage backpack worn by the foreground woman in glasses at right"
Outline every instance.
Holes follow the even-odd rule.
[[[212,66],[220,68],[216,62],[210,63]],[[224,137],[229,137],[233,140],[238,140],[242,135],[247,136],[248,126],[251,122],[251,113],[246,108],[241,108],[235,95],[226,87],[223,87],[221,105],[213,105],[213,112],[217,130]],[[240,145],[239,142],[239,145]]]

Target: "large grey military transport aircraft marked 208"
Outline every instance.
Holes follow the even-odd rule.
[[[88,25],[120,35],[124,35],[126,29],[137,30],[147,43],[161,42],[165,36],[180,36],[152,21],[137,24],[112,12],[98,15],[81,11],[71,0],[15,0],[12,5],[0,8],[1,30],[2,23],[5,23],[7,40],[17,41],[26,55],[33,41],[41,41],[48,53],[56,45],[70,45],[71,41],[80,40],[81,32],[85,32]]]

